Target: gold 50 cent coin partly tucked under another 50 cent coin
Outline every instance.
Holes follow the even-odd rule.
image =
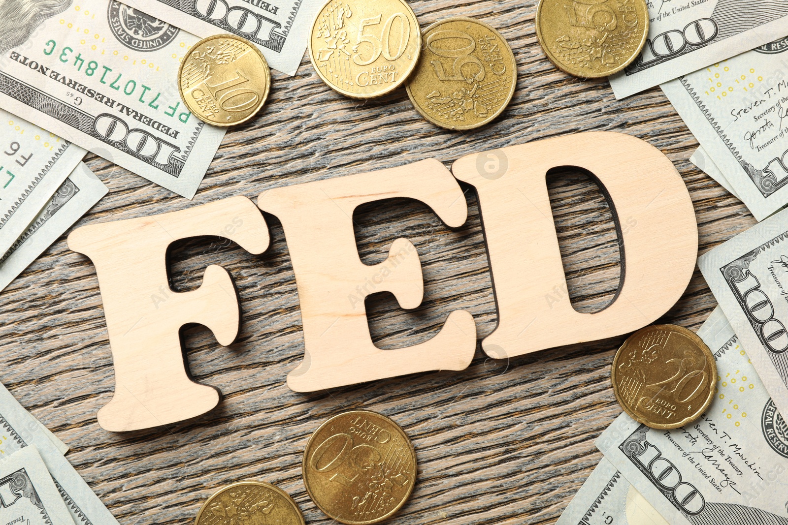
[[[472,129],[504,111],[515,94],[517,64],[509,44],[481,20],[448,18],[422,35],[424,50],[407,96],[426,120]]]

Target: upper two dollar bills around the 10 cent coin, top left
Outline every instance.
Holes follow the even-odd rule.
[[[174,72],[184,55],[202,37],[233,33],[292,76],[323,3],[8,0],[0,3],[0,107],[72,151],[192,198],[225,129],[180,100]]]

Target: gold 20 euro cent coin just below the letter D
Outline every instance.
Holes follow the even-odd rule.
[[[717,366],[693,331],[656,324],[626,339],[610,375],[624,412],[639,423],[667,430],[696,420],[712,402]]]

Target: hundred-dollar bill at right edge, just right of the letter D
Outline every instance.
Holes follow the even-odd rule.
[[[697,265],[764,386],[788,414],[788,210],[704,253]]]

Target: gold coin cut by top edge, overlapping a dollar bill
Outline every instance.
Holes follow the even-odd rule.
[[[537,39],[563,72],[595,79],[621,71],[649,35],[645,0],[541,0]]]

